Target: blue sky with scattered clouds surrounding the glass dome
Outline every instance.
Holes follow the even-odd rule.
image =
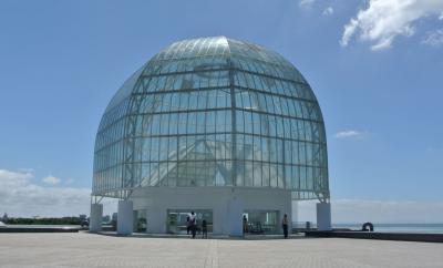
[[[212,35],[275,50],[310,83],[334,223],[443,223],[442,0],[1,0],[0,214],[87,214],[112,95],[162,48]]]

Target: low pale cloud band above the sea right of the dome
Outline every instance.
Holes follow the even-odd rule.
[[[298,203],[297,221],[316,221],[316,200]],[[442,223],[443,202],[332,199],[332,223]]]

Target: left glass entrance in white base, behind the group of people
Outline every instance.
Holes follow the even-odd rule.
[[[168,234],[187,234],[187,217],[190,212],[196,214],[197,234],[202,231],[203,219],[206,219],[207,231],[213,233],[212,209],[167,209],[166,229]]]

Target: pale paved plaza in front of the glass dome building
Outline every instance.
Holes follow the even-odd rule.
[[[443,244],[0,234],[0,267],[443,267]]]

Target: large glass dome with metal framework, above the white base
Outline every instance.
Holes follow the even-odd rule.
[[[324,123],[300,72],[225,37],[171,44],[116,92],[99,126],[93,195],[267,187],[328,198]]]

